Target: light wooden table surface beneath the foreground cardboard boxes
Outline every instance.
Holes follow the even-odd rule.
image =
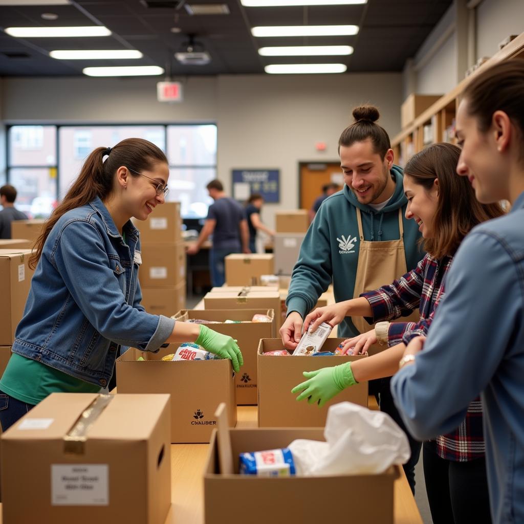
[[[370,409],[378,409],[369,397]],[[257,407],[238,406],[237,428],[257,427]],[[209,444],[171,444],[171,509],[166,524],[203,524],[204,483],[202,471]],[[422,524],[406,476],[395,481],[395,524]],[[232,521],[235,520],[232,515]],[[379,524],[379,523],[377,523]]]

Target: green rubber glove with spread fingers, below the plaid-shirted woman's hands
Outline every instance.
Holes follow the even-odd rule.
[[[318,403],[320,407],[343,389],[358,384],[353,377],[351,362],[334,367],[324,367],[316,371],[304,371],[303,375],[309,380],[295,386],[291,392],[301,392],[297,400],[307,398],[308,403]]]

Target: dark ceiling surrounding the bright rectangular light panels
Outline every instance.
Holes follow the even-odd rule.
[[[228,15],[190,15],[185,4],[226,4]],[[113,34],[97,38],[13,38],[0,31],[0,76],[82,75],[93,65],[160,65],[168,75],[260,74],[270,63],[343,62],[347,72],[401,71],[452,0],[368,0],[364,5],[244,7],[240,0],[79,0],[70,5],[2,6],[0,28],[103,25]],[[148,6],[148,4],[154,6]],[[42,13],[53,13],[49,21]],[[265,25],[355,24],[356,36],[255,38]],[[174,33],[171,28],[180,32]],[[174,53],[188,35],[208,51],[207,65],[182,65]],[[351,45],[346,57],[260,57],[257,49],[286,45]],[[137,49],[138,60],[56,60],[55,49]],[[196,49],[199,50],[199,49]]]

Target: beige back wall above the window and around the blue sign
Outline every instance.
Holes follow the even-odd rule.
[[[263,220],[298,205],[300,161],[337,160],[339,135],[353,106],[379,106],[390,136],[400,130],[401,73],[346,75],[225,75],[192,77],[184,102],[156,100],[157,79],[5,78],[4,123],[216,122],[218,172],[228,191],[233,168],[279,168],[280,204]],[[323,152],[315,143],[324,141]]]

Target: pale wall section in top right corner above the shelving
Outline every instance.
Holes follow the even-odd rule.
[[[484,0],[476,13],[477,59],[491,57],[498,43],[508,35],[524,31],[524,2],[522,0]]]

